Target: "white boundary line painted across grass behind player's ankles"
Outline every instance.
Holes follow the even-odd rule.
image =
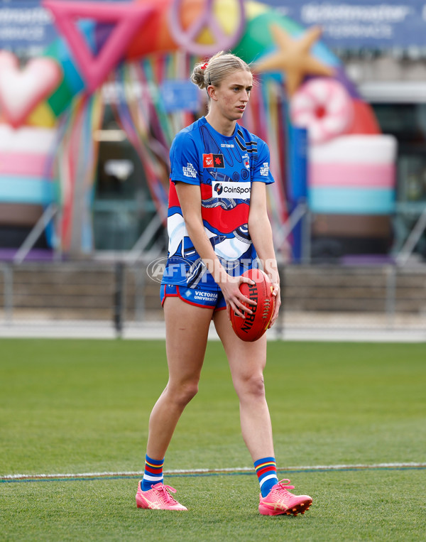
[[[278,472],[283,470],[346,470],[346,469],[386,469],[386,468],[404,468],[404,467],[426,467],[426,463],[374,463],[373,465],[302,465],[301,467],[283,467],[278,469]],[[165,475],[198,475],[221,472],[250,472],[253,467],[235,467],[224,469],[178,469],[165,470]],[[254,471],[253,471],[254,472]],[[136,471],[118,471],[118,472],[79,472],[77,474],[42,474],[42,475],[3,475],[0,480],[25,480],[25,479],[50,479],[50,478],[87,478],[87,477],[111,477],[111,476],[143,476],[143,470]]]

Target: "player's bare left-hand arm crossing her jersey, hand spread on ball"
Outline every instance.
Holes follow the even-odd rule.
[[[217,255],[214,253],[212,243],[207,237],[204,231],[204,224],[202,223],[200,186],[182,182],[175,183],[175,185],[188,235],[195,250],[200,254],[207,269],[212,273],[214,281],[221,288],[228,314],[230,310],[234,310],[236,315],[244,318],[244,313],[241,313],[241,310],[247,309],[243,305],[243,302],[251,305],[256,305],[256,303],[253,303],[249,298],[241,294],[239,285],[241,282],[253,283],[253,281],[250,281],[249,278],[241,276],[234,277],[226,273]],[[248,312],[251,313],[251,310]]]

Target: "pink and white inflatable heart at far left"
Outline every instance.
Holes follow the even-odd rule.
[[[62,70],[53,58],[33,58],[20,69],[13,53],[0,51],[0,107],[6,121],[21,126],[61,80]]]

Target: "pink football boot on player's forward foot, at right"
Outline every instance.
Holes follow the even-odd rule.
[[[278,514],[305,514],[312,504],[312,497],[309,495],[293,495],[288,489],[295,489],[290,484],[289,479],[284,479],[275,484],[271,491],[262,497],[259,503],[259,512],[263,516],[278,516]]]

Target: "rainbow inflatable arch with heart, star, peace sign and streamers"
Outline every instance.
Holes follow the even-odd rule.
[[[43,56],[20,68],[0,51],[0,210],[20,206],[25,222],[28,206],[40,215],[58,203],[52,243],[65,253],[92,249],[92,132],[102,125],[103,83],[119,89],[117,120],[165,217],[168,148],[205,107],[204,93],[197,107],[193,99],[185,102],[185,85],[195,61],[221,49],[253,63],[261,78],[244,123],[271,148],[277,182],[268,205],[278,246],[294,194],[307,193],[310,210],[320,215],[393,212],[395,140],[381,134],[371,107],[319,41],[318,28],[305,30],[250,0],[44,0],[43,6],[60,33]],[[162,99],[170,83],[182,86],[175,109]],[[292,178],[297,153],[289,134],[298,128],[308,134],[308,170]]]

